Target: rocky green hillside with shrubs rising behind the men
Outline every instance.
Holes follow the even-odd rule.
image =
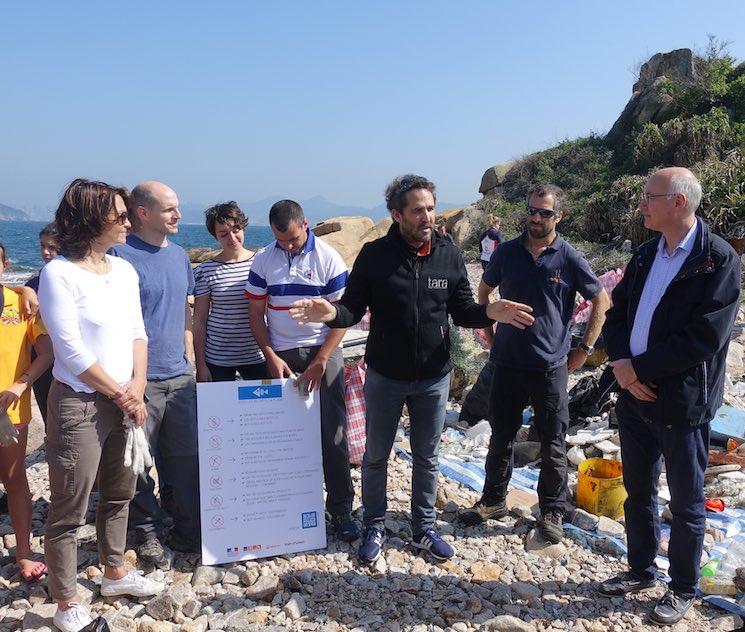
[[[590,247],[648,238],[637,210],[650,172],[687,166],[701,179],[701,215],[735,247],[745,246],[745,62],[711,39],[706,51],[653,55],[605,136],[566,140],[484,173],[473,205],[451,211],[449,230],[468,250],[486,213],[519,229],[525,192],[538,181],[567,192],[564,233]],[[467,226],[464,226],[464,223]],[[742,250],[740,250],[742,251]]]

